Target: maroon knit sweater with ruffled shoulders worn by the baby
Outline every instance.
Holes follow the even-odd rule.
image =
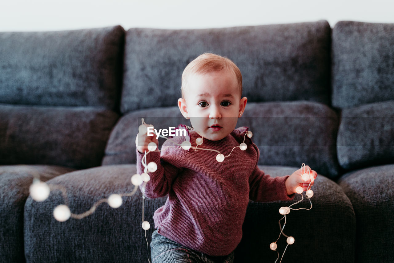
[[[199,148],[215,149],[229,155],[242,143],[246,127],[238,128],[219,141],[204,139]],[[200,137],[190,132],[196,147]],[[147,154],[147,163],[158,169],[151,173],[145,195],[149,198],[168,194],[164,206],[154,213],[158,233],[193,250],[208,255],[230,254],[242,238],[242,224],[249,199],[253,201],[291,200],[284,181],[288,176],[270,177],[258,169],[259,150],[249,137],[247,149],[235,148],[223,162],[217,152],[184,150],[185,137],[168,139],[160,152]],[[137,151],[137,172],[143,173],[143,154]]]

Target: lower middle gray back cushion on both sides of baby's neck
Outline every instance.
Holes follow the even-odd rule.
[[[190,126],[178,107],[133,111],[113,129],[103,165],[136,162],[136,135],[141,118],[158,129]],[[336,133],[338,117],[324,104],[312,101],[248,103],[237,127],[247,126],[260,150],[263,165],[297,166],[308,163],[318,173],[338,176]],[[165,139],[159,139],[159,148]]]

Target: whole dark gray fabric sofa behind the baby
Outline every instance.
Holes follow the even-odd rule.
[[[0,33],[1,262],[147,262],[139,191],[58,222],[62,191],[37,202],[29,187],[61,184],[75,214],[131,192],[141,118],[188,124],[175,106],[180,76],[204,52],[243,74],[238,126],[253,131],[260,168],[282,176],[306,163],[320,174],[312,209],[287,217],[296,242],[282,262],[394,261],[394,24],[316,21]],[[145,200],[151,225],[164,202]],[[278,210],[291,203],[249,203],[236,262],[275,261]]]

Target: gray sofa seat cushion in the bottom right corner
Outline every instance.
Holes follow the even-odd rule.
[[[394,164],[351,171],[338,184],[349,197],[356,215],[355,262],[392,262]]]

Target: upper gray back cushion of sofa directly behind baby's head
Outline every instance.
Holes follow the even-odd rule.
[[[126,32],[121,111],[177,105],[181,75],[202,53],[240,68],[249,101],[330,103],[327,21],[214,29],[131,28]]]

